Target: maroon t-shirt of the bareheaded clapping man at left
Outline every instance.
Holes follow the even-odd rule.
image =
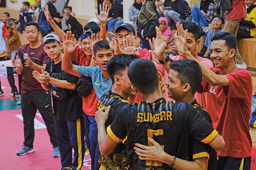
[[[23,63],[22,93],[38,93],[45,91],[41,84],[33,78],[32,72],[34,69],[32,67],[25,67],[24,64],[26,61],[24,56],[29,56],[31,60],[38,65],[46,64],[51,60],[44,50],[44,44],[41,44],[37,48],[30,48],[29,43],[22,45],[18,48],[17,55]]]

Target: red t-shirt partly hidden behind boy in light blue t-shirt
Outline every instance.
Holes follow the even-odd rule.
[[[91,61],[87,60],[86,54],[84,54],[83,50],[76,48],[76,50],[72,53],[71,59],[77,62],[79,65],[90,66]],[[95,116],[95,112],[97,111],[98,99],[97,95],[92,88],[91,94],[89,94],[86,98],[82,98],[82,110],[89,116]]]

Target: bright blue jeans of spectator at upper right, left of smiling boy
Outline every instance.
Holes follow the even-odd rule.
[[[203,27],[207,27],[209,25],[203,13],[200,11],[200,9],[197,6],[194,5],[191,8],[191,14],[194,22],[198,25],[200,30],[203,29]]]

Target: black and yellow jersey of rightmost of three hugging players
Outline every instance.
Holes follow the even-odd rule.
[[[211,118],[210,115],[207,113],[207,111],[202,108],[197,101],[195,100],[193,103],[191,103],[199,112],[200,115],[202,115],[211,125]],[[210,145],[204,144],[196,139],[194,139],[193,142],[190,143],[191,146],[191,155],[189,160],[192,161],[196,158],[205,157],[207,156],[209,158],[208,161],[208,170],[216,170],[218,165],[218,156],[215,149],[211,148]]]

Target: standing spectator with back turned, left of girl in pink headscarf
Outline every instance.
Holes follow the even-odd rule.
[[[155,27],[159,26],[155,2],[156,0],[146,0],[137,19],[137,35],[141,39],[141,47],[147,48],[147,50],[151,49],[148,40],[156,37]]]

